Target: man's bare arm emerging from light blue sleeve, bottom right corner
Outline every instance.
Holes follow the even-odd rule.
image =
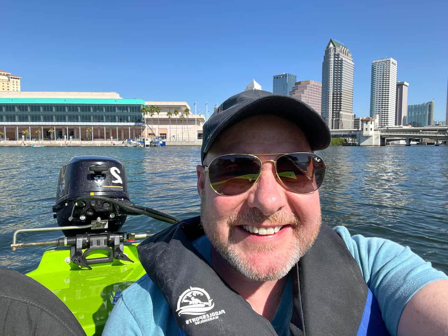
[[[398,336],[448,335],[448,280],[430,282],[409,300]]]

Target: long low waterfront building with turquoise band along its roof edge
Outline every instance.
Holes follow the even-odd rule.
[[[0,138],[122,140],[142,134],[143,99],[116,92],[0,92]]]

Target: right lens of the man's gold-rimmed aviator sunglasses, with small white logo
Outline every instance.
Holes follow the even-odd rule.
[[[318,190],[325,175],[323,160],[309,153],[280,156],[276,167],[284,185],[299,194]]]

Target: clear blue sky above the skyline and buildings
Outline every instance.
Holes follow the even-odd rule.
[[[353,113],[368,116],[372,60],[393,57],[408,104],[435,99],[445,120],[446,1],[3,0],[0,69],[23,91],[116,91],[185,100],[205,112],[254,78],[321,82],[330,38],[355,64]]]

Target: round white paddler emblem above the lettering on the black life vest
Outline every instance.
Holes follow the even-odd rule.
[[[212,310],[215,303],[212,302],[210,295],[203,289],[191,287],[181,294],[177,301],[177,314],[201,315],[206,311]]]

